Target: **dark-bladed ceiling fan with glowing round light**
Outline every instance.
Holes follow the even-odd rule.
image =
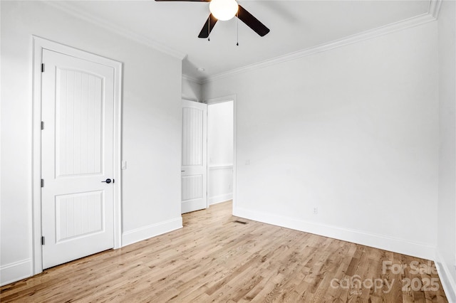
[[[214,28],[217,21],[226,21],[234,16],[244,22],[249,28],[258,33],[259,36],[264,36],[269,33],[269,28],[264,26],[257,18],[250,14],[246,9],[237,4],[236,0],[155,0],[155,1],[190,1],[190,2],[210,2],[209,3],[209,18],[202,27],[198,38],[209,38],[209,34]]]

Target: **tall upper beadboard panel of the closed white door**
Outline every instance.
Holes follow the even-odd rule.
[[[57,67],[56,80],[56,176],[101,174],[103,79]]]

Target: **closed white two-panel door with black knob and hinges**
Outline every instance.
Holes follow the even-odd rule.
[[[51,50],[43,50],[43,63],[41,209],[48,268],[114,246],[114,69]]]

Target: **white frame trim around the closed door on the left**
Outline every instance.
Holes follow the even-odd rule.
[[[71,55],[83,60],[103,64],[114,69],[114,128],[113,128],[113,184],[114,191],[114,248],[122,247],[122,174],[120,170],[122,147],[122,63],[101,57],[84,50],[65,46],[61,43],[32,36],[32,213],[31,213],[31,255],[32,272],[43,272],[41,250],[41,63],[43,50]]]

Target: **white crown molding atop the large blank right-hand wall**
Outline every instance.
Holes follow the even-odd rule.
[[[440,4],[442,0],[430,0],[429,8],[427,13],[421,14],[418,16],[414,16],[402,21],[397,21],[394,23],[390,23],[385,26],[380,26],[378,28],[373,28],[368,31],[363,31],[361,33],[356,33],[351,36],[347,36],[345,38],[329,41],[328,43],[323,43],[318,46],[313,46],[311,48],[305,48],[304,50],[298,50],[293,53],[288,53],[286,55],[281,55],[276,58],[268,59],[261,61],[259,63],[254,63],[250,65],[245,65],[241,68],[236,68],[234,70],[229,70],[225,73],[219,73],[217,75],[213,75],[205,80],[202,81],[202,84],[212,82],[214,80],[219,80],[222,78],[226,78],[232,75],[238,75],[240,73],[246,73],[247,71],[257,70],[259,68],[266,68],[271,65],[284,63],[289,60],[296,60],[298,58],[306,57],[308,55],[314,55],[316,53],[321,53],[326,50],[332,50],[334,48],[340,48],[342,46],[347,46],[349,44],[358,43],[361,41],[366,41],[378,36],[384,36],[388,33],[394,33],[396,31],[402,31],[406,28],[412,28],[414,26],[419,26],[421,24],[436,21],[438,13],[440,11]]]

